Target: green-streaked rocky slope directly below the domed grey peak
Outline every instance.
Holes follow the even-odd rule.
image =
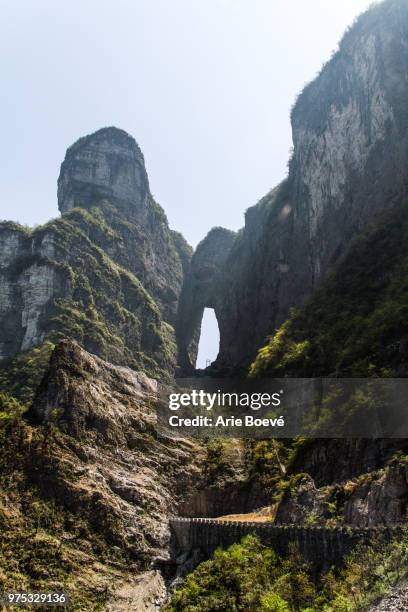
[[[108,255],[123,243],[109,211],[108,204],[75,208],[36,228],[29,240],[49,242],[47,256],[23,255],[11,272],[18,278],[33,265],[54,271],[54,296],[42,317],[47,340],[75,339],[113,363],[167,379],[175,367],[174,330],[139,278]]]

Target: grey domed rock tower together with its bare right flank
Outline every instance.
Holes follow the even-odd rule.
[[[91,238],[138,277],[174,325],[181,260],[189,259],[191,250],[181,235],[169,230],[163,209],[154,201],[134,138],[117,128],[103,128],[69,147],[58,179],[58,206],[62,214],[73,207],[103,211],[116,236],[108,244],[104,236]]]

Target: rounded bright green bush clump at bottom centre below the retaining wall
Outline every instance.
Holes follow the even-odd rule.
[[[246,536],[202,563],[165,610],[285,612],[307,608],[316,598],[307,568],[295,554],[282,560],[256,536]]]

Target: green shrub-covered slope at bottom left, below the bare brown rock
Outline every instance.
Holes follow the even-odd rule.
[[[45,498],[30,482],[30,468],[39,467],[36,453],[51,445],[50,432],[27,428],[18,414],[5,422],[1,414],[0,590],[65,590],[72,610],[106,609],[108,585],[127,576],[127,561],[85,516]]]

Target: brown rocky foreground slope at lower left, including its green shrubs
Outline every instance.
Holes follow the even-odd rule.
[[[64,341],[30,418],[0,412],[3,590],[65,588],[73,610],[128,609],[122,596],[155,609],[164,584],[151,563],[166,556],[168,516],[205,463],[201,443],[160,430],[157,389]],[[154,585],[151,607],[138,608]],[[113,591],[118,607],[106,608]]]

